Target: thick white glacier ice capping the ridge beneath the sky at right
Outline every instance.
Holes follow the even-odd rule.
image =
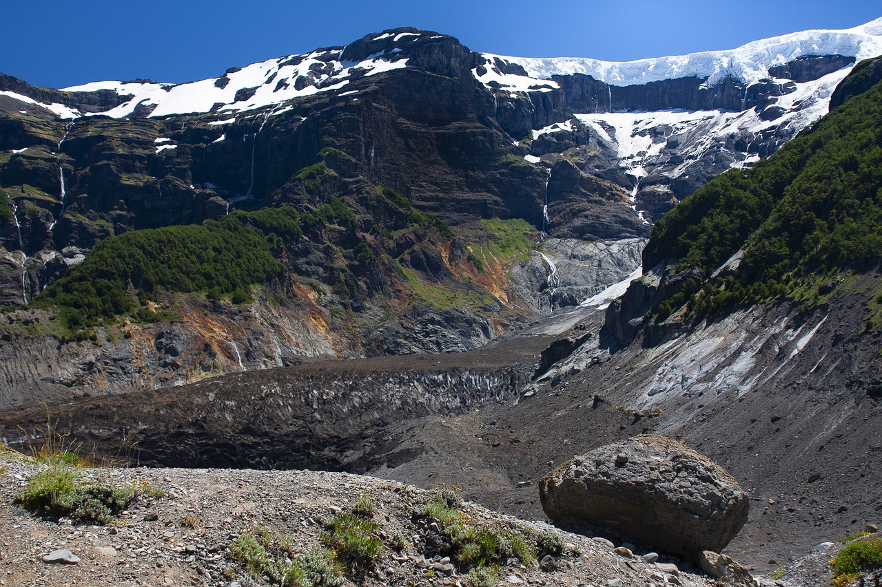
[[[520,65],[529,78],[581,73],[609,85],[642,85],[662,79],[707,78],[714,85],[732,76],[751,85],[770,78],[769,68],[804,56],[840,55],[857,60],[882,55],[882,18],[844,30],[812,30],[752,41],[739,48],[702,51],[682,56],[654,57],[629,62],[611,62],[587,57],[483,56],[490,62],[501,59]]]

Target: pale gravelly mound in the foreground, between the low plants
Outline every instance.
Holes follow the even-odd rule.
[[[431,529],[415,509],[433,492],[346,473],[187,469],[85,469],[84,478],[124,487],[161,489],[141,496],[108,525],[41,519],[12,503],[13,495],[42,465],[0,457],[0,584],[3,585],[235,585],[266,584],[234,560],[229,546],[264,527],[290,535],[289,551],[319,545],[325,523],[370,495],[373,521],[383,551],[360,577],[344,584],[467,585],[465,573],[427,554]],[[149,484],[149,485],[148,485]],[[551,528],[502,516],[474,503],[460,505],[464,519],[478,525],[512,527],[525,536]],[[714,585],[682,561],[560,531],[563,553],[528,564],[504,562],[498,584],[536,585]],[[396,550],[392,537],[405,538]],[[616,550],[614,550],[616,549]],[[50,554],[72,560],[49,562]]]

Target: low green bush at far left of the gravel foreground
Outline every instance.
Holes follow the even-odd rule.
[[[35,474],[12,501],[35,514],[109,524],[134,497],[130,489],[101,481],[79,483],[77,478],[69,467],[53,467]]]

